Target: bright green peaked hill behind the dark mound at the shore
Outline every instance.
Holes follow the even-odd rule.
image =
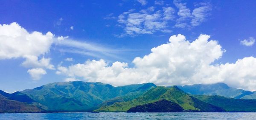
[[[157,86],[156,88],[150,89],[145,92],[142,96],[135,98],[134,100],[129,100],[121,103],[114,103],[110,106],[102,106],[96,109],[96,112],[126,112],[132,107],[139,105],[144,105],[147,103],[154,103],[159,100],[169,100],[179,106],[181,106],[185,111],[204,111],[204,112],[215,112],[224,111],[220,107],[213,106],[211,104],[205,103],[198,100],[195,97],[190,96],[184,91],[173,86],[171,88],[164,86]]]

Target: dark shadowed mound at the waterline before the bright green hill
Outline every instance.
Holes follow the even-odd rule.
[[[183,112],[184,109],[177,103],[169,100],[159,100],[154,103],[147,103],[132,107],[127,112]]]

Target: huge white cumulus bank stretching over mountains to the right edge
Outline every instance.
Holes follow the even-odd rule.
[[[152,48],[150,54],[134,58],[132,68],[128,63],[117,61],[111,65],[101,59],[58,66],[56,73],[72,78],[70,80],[81,77],[88,82],[114,86],[147,82],[164,86],[224,82],[233,87],[256,90],[256,58],[213,64],[225,50],[218,41],[209,38],[209,35],[201,34],[190,43],[181,34],[173,35],[168,43]]]

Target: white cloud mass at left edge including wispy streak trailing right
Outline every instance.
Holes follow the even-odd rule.
[[[62,19],[60,19],[62,21]],[[21,63],[28,68],[28,73],[33,80],[39,80],[42,75],[47,74],[46,70],[55,70],[51,64],[51,58],[44,57],[49,53],[50,48],[61,46],[63,52],[83,54],[93,57],[113,57],[118,58],[116,53],[131,51],[129,49],[111,49],[98,44],[81,42],[70,39],[69,36],[54,37],[51,32],[42,34],[38,31],[28,32],[18,23],[0,24],[0,60],[24,58]],[[73,61],[67,58],[66,61]]]

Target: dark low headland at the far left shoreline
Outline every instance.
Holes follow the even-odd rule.
[[[0,94],[0,113],[42,112],[43,109],[24,102],[9,100]]]

